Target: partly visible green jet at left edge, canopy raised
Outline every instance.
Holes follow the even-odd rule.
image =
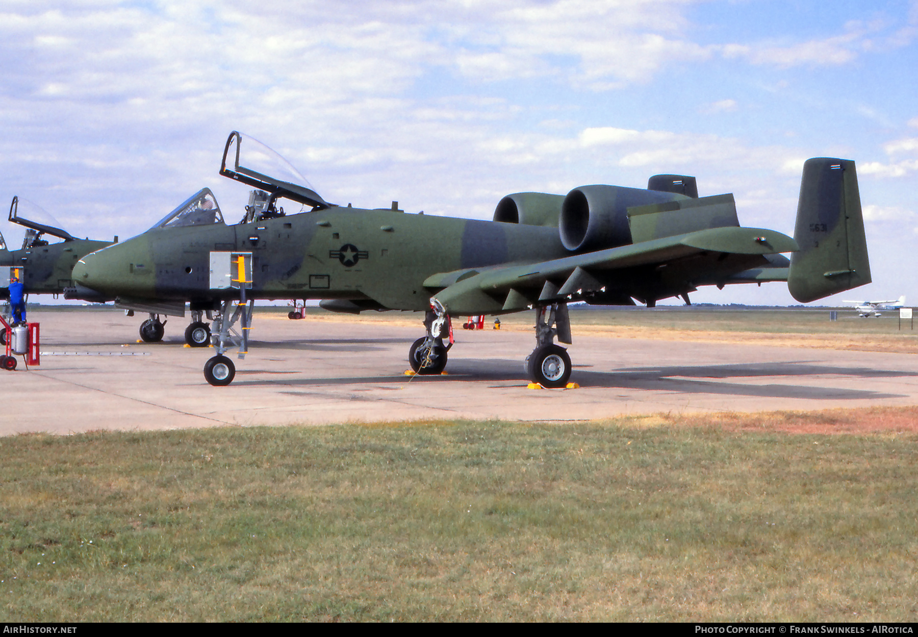
[[[8,219],[25,226],[26,234],[18,250],[7,249],[0,234],[0,296],[3,298],[9,297],[9,282],[14,277],[22,282],[27,294],[62,294],[73,285],[73,265],[83,256],[111,244],[110,241],[77,239],[47,211],[28,199],[14,197]],[[45,237],[61,241],[51,242]],[[6,344],[6,328],[0,330],[0,342]]]

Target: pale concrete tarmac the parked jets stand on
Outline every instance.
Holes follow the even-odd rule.
[[[448,375],[406,376],[415,327],[290,321],[256,313],[248,356],[228,387],[183,347],[189,319],[139,344],[143,316],[30,312],[39,367],[0,371],[0,435],[97,429],[321,425],[421,419],[582,421],[623,414],[816,410],[918,403],[913,355],[577,336],[576,390],[531,390],[531,333],[455,330]],[[488,325],[490,327],[490,325]]]

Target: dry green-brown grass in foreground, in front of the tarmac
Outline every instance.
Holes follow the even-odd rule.
[[[0,438],[0,609],[7,621],[915,621],[918,434],[900,425],[916,418]],[[871,422],[884,426],[864,433]]]

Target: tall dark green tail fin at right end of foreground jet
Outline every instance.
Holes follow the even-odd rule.
[[[802,303],[870,282],[855,163],[814,157],[803,165],[788,289]]]

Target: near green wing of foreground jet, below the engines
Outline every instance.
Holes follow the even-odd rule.
[[[659,270],[693,256],[765,256],[798,249],[793,239],[773,230],[711,228],[550,261],[439,273],[426,279],[424,286],[439,290],[435,298],[452,314],[513,312],[537,301],[559,300],[585,291],[604,292],[601,279],[610,279],[614,270],[640,267]],[[762,271],[733,272],[722,277],[722,282],[787,280],[787,268],[754,269]],[[741,275],[747,279],[729,280]],[[700,274],[700,279],[704,278]],[[700,284],[708,282],[700,280]]]

